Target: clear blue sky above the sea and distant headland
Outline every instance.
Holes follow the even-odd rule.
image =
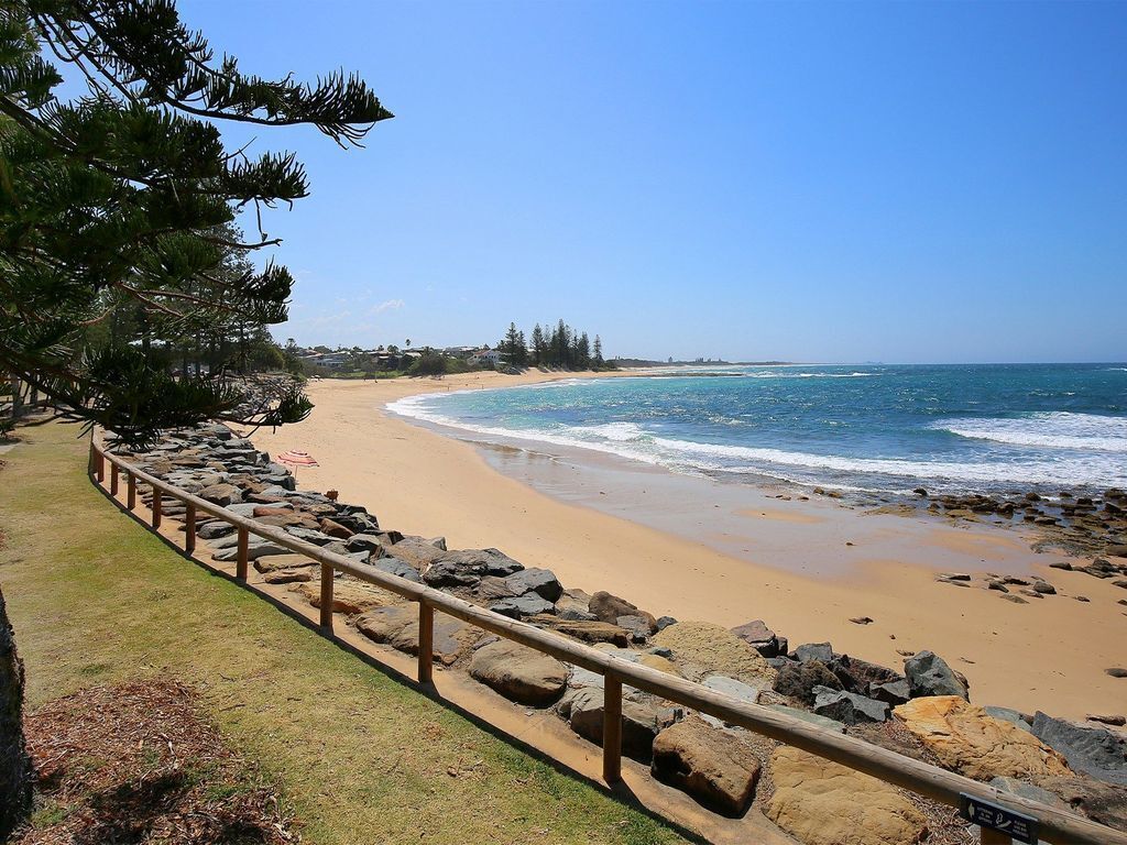
[[[1127,3],[181,0],[247,71],[393,121],[293,149],[279,338],[1127,358]],[[227,136],[248,133],[231,126]]]

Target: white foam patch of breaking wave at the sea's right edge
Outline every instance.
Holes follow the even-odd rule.
[[[1127,418],[1099,413],[1054,411],[1017,419],[948,419],[932,427],[1013,446],[1127,452]]]

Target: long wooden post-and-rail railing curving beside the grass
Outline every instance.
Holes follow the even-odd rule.
[[[708,690],[700,684],[613,657],[598,649],[569,640],[561,634],[543,631],[527,623],[502,616],[441,590],[399,578],[374,567],[357,563],[341,554],[328,552],[319,545],[287,534],[282,528],[264,525],[255,519],[233,514],[221,505],[210,502],[154,478],[106,451],[97,437],[92,438],[90,471],[99,483],[105,482],[107,463],[109,464],[109,492],[112,495],[117,495],[119,474],[124,473],[126,478],[126,507],[128,509],[132,510],[136,507],[136,484],[139,481],[149,484],[152,489],[152,525],[154,528],[159,527],[161,523],[165,496],[184,504],[184,546],[188,552],[195,549],[196,516],[199,513],[208,514],[233,525],[238,531],[236,576],[240,580],[247,579],[247,549],[250,534],[269,540],[320,563],[320,624],[327,632],[332,630],[335,572],[346,572],[358,580],[417,603],[419,607],[417,676],[420,684],[429,684],[432,681],[433,623],[436,610],[504,639],[602,675],[605,696],[603,706],[603,777],[607,783],[613,784],[621,780],[622,685],[627,684],[952,807],[959,807],[961,797],[969,795],[978,801],[1008,808],[1036,819],[1039,837],[1045,842],[1061,843],[1062,845],[1127,845],[1127,833],[1098,825],[1072,812],[1002,792],[969,777],[820,728],[786,713],[758,704],[748,704]],[[1009,843],[1010,836],[983,827],[982,842],[984,844]]]

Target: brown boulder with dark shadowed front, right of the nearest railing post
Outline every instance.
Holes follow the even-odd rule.
[[[755,797],[760,762],[738,735],[690,718],[654,739],[650,772],[709,809],[740,816]]]

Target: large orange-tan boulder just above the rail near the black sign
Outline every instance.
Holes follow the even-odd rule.
[[[893,714],[944,768],[976,781],[1068,774],[1064,758],[1032,733],[958,695],[913,699]]]

